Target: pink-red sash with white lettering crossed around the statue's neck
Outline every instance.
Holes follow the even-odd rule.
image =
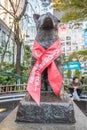
[[[48,80],[55,95],[58,95],[62,85],[62,77],[54,63],[62,53],[58,39],[47,50],[34,41],[33,56],[37,59],[28,79],[27,91],[35,102],[40,105],[41,74],[47,68]]]

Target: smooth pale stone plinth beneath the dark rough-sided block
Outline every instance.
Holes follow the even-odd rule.
[[[0,130],[87,130],[87,117],[82,111],[74,104],[75,119],[74,124],[61,124],[61,123],[24,123],[15,122],[17,108],[10,113],[1,123]]]

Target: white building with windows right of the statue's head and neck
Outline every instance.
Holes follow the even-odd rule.
[[[73,52],[87,49],[84,43],[84,22],[78,28],[64,24],[59,27],[59,37],[62,44],[63,53],[69,56]]]

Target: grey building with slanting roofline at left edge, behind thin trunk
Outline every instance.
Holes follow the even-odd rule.
[[[10,37],[9,37],[10,35]],[[0,19],[0,63],[14,61],[14,35],[9,27]],[[3,54],[6,50],[4,59]]]

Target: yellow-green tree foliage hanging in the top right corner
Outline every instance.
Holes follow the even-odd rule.
[[[64,22],[83,20],[87,18],[87,0],[54,0],[55,10],[64,11]]]

